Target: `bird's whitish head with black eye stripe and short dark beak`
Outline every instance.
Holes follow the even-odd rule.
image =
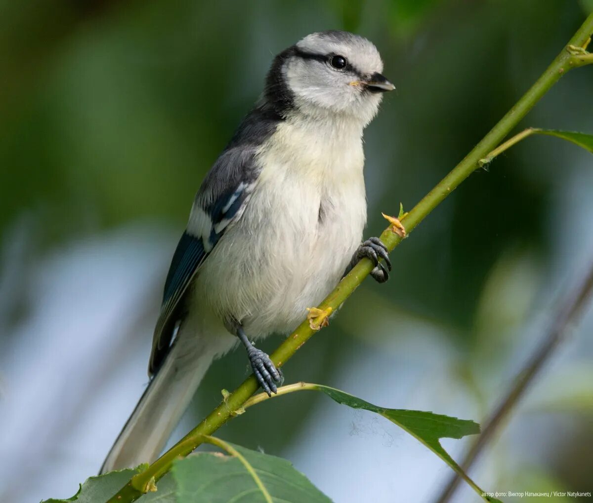
[[[347,116],[366,126],[377,113],[382,92],[394,89],[382,71],[377,48],[364,37],[322,31],[276,56],[265,97],[283,114]]]

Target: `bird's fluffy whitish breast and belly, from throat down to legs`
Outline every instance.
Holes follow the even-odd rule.
[[[198,302],[233,316],[254,338],[290,331],[329,294],[366,221],[358,124],[286,120],[257,157],[263,167],[247,209],[195,290]]]

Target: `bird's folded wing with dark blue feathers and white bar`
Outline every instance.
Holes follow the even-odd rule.
[[[184,314],[182,300],[196,271],[229,225],[245,210],[259,174],[254,156],[255,148],[244,145],[225,150],[202,182],[165,281],[161,313],[152,339],[149,375],[158,370],[170,349],[176,323]]]

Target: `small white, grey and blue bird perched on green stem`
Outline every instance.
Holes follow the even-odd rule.
[[[363,257],[391,263],[366,225],[363,132],[384,92],[377,48],[312,33],[272,61],[264,90],[206,174],[171,261],[148,387],[101,473],[152,462],[215,358],[246,348],[270,395],[282,374],[255,341],[289,334]]]

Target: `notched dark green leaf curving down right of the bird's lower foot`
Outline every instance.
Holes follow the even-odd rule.
[[[441,446],[441,438],[462,438],[466,435],[475,435],[480,432],[480,425],[467,419],[457,419],[432,412],[408,411],[404,409],[386,409],[366,402],[361,398],[349,395],[333,387],[315,385],[315,389],[325,393],[331,399],[353,409],[365,409],[375,412],[382,417],[394,422],[410,435],[417,438],[426,447],[447,463],[461,478],[474,489],[485,501],[500,503],[498,499],[487,496],[476,483],[471,480],[461,467],[455,463],[451,456]]]

